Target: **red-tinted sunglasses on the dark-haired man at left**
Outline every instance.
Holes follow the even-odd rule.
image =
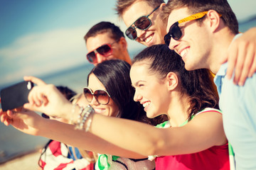
[[[117,42],[117,41],[114,41],[114,42]],[[104,57],[109,57],[110,55],[112,55],[113,50],[112,50],[111,46],[114,44],[114,42],[112,42],[111,44],[102,45],[100,47],[97,47],[92,52],[88,52],[86,55],[87,60],[92,64],[97,62],[96,53],[99,53],[100,55],[102,55]]]

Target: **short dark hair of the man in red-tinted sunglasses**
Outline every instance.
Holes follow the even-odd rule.
[[[124,38],[124,33],[118,26],[115,26],[114,23],[110,23],[107,21],[102,21],[100,23],[97,23],[95,26],[92,26],[90,30],[85,34],[85,42],[87,42],[87,39],[90,37],[95,37],[98,34],[101,33],[109,33],[110,38],[114,40],[120,40],[120,38]]]

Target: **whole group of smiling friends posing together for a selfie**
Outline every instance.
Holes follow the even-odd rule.
[[[256,28],[239,33],[227,0],[117,0],[116,11],[124,33],[102,21],[84,37],[95,67],[80,104],[24,77],[37,84],[29,103],[0,111],[67,155],[79,148],[41,169],[256,169]],[[146,45],[133,59],[124,34]]]

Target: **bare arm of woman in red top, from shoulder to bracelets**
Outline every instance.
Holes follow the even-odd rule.
[[[188,154],[227,143],[222,115],[214,112],[197,115],[183,127],[167,129],[95,114],[90,131],[119,147],[143,155]]]

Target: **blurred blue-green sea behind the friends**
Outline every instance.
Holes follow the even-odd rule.
[[[246,21],[240,21],[239,23],[240,32],[242,33],[255,26],[256,16]],[[134,56],[135,53],[137,53],[137,51],[131,52],[130,55]],[[73,89],[73,91],[81,93],[82,88],[87,85],[87,74],[92,68],[92,64],[83,64],[39,78],[43,79],[43,81],[46,81],[48,84],[68,86],[70,89]],[[0,86],[0,89],[10,85],[11,84],[5,84],[4,86]],[[36,149],[41,149],[46,145],[48,140],[49,139],[45,137],[26,135],[11,126],[6,127],[3,123],[0,123],[0,164],[20,157],[23,154],[33,152]]]

